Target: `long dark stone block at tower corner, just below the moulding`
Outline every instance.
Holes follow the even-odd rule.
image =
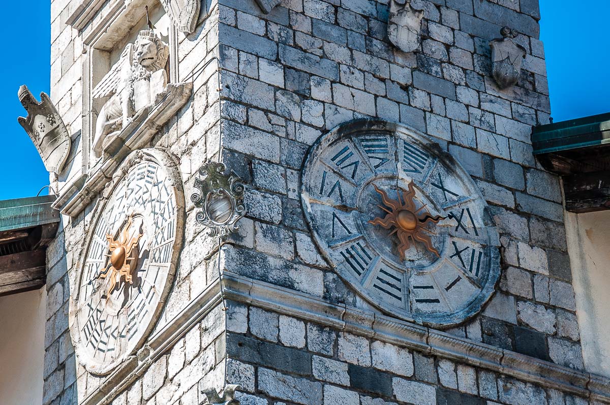
[[[304,351],[231,333],[226,345],[228,356],[243,362],[306,376],[312,373],[311,354]]]

